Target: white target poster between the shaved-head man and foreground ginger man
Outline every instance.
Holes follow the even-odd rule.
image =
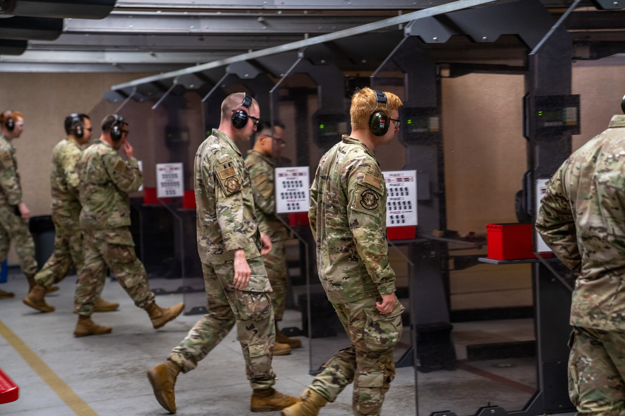
[[[276,167],[276,212],[307,212],[310,204],[310,168]]]

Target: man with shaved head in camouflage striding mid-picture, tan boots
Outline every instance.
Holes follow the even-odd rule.
[[[226,97],[219,129],[213,129],[196,152],[197,252],[209,312],[172,350],[165,364],[148,372],[156,399],[172,413],[176,412],[174,385],[179,372],[195,369],[235,323],[247,379],[254,389],[251,411],[280,410],[297,402],[271,387],[276,379],[271,367],[275,321],[271,285],[261,258],[261,250],[267,250],[271,242],[259,232],[249,174],[233,141],[249,140],[256,124],[248,119],[236,129],[231,122],[232,113],[243,106],[243,97],[242,93]],[[255,101],[244,111],[249,116],[259,114]],[[241,279],[246,265],[248,283]]]

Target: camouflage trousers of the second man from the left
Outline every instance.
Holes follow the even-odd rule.
[[[57,219],[54,215],[53,221],[56,232],[54,252],[35,275],[37,284],[43,287],[51,287],[65,279],[72,265],[76,266],[78,274],[83,269],[83,233],[78,227],[78,221],[64,224],[67,221]]]

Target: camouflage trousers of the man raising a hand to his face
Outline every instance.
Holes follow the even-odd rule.
[[[154,302],[148,274],[134,252],[128,227],[83,230],[83,255],[83,270],[78,275],[74,295],[74,314],[91,316],[104,287],[108,269],[137,307],[146,309]]]

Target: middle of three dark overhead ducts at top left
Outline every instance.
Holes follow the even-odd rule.
[[[51,17],[9,17],[0,19],[0,39],[54,41],[63,31],[63,19]]]

